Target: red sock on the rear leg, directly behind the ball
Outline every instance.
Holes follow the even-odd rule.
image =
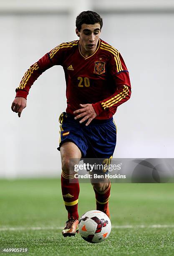
[[[96,189],[93,188],[96,194],[96,207],[97,210],[101,212],[105,212],[108,217],[110,218],[109,208],[108,208],[108,201],[111,192],[111,182],[109,181],[108,187],[103,192],[97,192]]]

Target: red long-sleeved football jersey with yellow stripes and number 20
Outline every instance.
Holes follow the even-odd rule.
[[[33,82],[54,65],[61,65],[65,72],[67,113],[91,103],[96,119],[108,119],[131,96],[129,72],[121,54],[99,39],[89,57],[81,53],[79,40],[55,47],[27,70],[16,88],[16,97],[27,98]]]

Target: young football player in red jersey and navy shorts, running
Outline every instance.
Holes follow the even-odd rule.
[[[129,100],[129,73],[119,51],[100,39],[100,15],[84,11],[76,18],[77,41],[62,43],[33,64],[23,76],[12,110],[20,117],[33,82],[47,69],[61,65],[66,78],[66,112],[60,115],[61,187],[68,221],[63,236],[74,236],[78,228],[79,183],[74,164],[82,157],[111,159],[116,146],[113,114]],[[71,161],[73,159],[73,161]],[[111,184],[93,183],[96,208],[109,217]]]

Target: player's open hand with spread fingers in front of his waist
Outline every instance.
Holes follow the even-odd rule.
[[[88,119],[88,122],[86,123],[86,126],[87,126],[97,116],[97,114],[92,104],[84,104],[84,105],[80,104],[80,107],[81,107],[80,109],[73,112],[76,115],[74,119],[77,120],[78,118],[83,118],[80,120],[79,123],[83,123]]]

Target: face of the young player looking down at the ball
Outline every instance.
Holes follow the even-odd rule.
[[[76,28],[76,34],[80,37],[82,54],[93,54],[93,52],[96,51],[101,34],[100,24],[82,24],[81,31],[78,31]]]

